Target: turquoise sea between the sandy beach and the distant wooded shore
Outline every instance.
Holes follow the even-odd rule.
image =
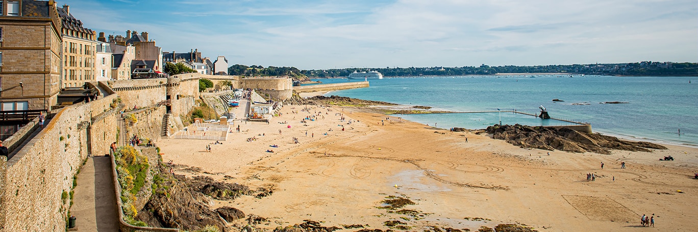
[[[322,84],[364,81],[313,80]],[[428,106],[441,111],[489,111],[396,115],[445,129],[484,129],[500,121],[503,125],[573,124],[510,112],[540,114],[540,107],[544,107],[552,118],[591,123],[594,132],[639,141],[698,146],[697,77],[487,75],[385,77],[369,79],[369,83],[369,88],[332,91],[325,95]]]

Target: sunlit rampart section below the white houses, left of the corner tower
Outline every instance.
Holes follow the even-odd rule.
[[[165,78],[156,79],[126,79],[110,81],[109,86],[121,96],[121,102],[126,109],[133,107],[148,107],[167,99],[167,83]]]

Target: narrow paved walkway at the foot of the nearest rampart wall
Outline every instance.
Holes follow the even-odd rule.
[[[77,218],[77,231],[119,231],[111,169],[110,157],[89,157],[77,174],[73,207],[70,208]]]

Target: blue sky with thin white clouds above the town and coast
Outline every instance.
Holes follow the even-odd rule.
[[[58,0],[163,52],[329,68],[698,62],[695,0]]]

